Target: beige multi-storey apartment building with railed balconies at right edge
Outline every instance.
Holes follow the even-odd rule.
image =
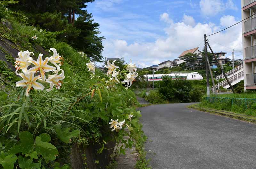
[[[244,57],[244,90],[256,89],[256,0],[241,0]],[[254,15],[255,14],[255,15]]]

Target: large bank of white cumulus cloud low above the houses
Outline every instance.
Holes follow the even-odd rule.
[[[189,16],[188,16],[189,17]],[[107,39],[104,42],[103,55],[107,57],[124,57],[125,60],[132,59],[142,67],[159,64],[165,60],[174,60],[184,50],[199,47],[203,49],[204,34],[209,35],[221,30],[227,25],[236,23],[233,16],[223,16],[220,24],[197,23],[193,25],[182,22],[172,21],[167,13],[163,13],[160,20],[169,23],[164,29],[165,37],[158,37],[154,42],[128,42],[124,39]],[[242,29],[241,24],[231,27],[227,31],[209,37],[212,49],[230,53],[234,47],[237,51],[242,51]],[[220,45],[220,44],[222,45]],[[224,46],[223,46],[224,45]],[[238,53],[239,54],[239,53]],[[144,64],[143,64],[144,63]]]

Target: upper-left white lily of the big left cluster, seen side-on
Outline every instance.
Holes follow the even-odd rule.
[[[15,73],[17,75],[18,74],[18,71],[21,69],[23,73],[27,73],[28,71],[28,66],[31,65],[31,63],[29,61],[32,60],[32,58],[30,57],[30,54],[31,55],[34,55],[33,52],[29,52],[29,51],[24,51],[24,52],[19,52],[18,53],[18,57],[19,58],[16,58],[15,60],[15,68],[16,68],[16,71]]]

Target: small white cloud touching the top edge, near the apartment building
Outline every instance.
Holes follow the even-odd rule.
[[[222,0],[201,0],[199,4],[202,14],[206,17],[215,16],[225,10],[238,10],[233,0],[227,0],[226,3]]]

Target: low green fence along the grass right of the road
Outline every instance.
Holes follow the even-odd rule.
[[[253,104],[256,107],[256,99],[248,98],[230,98],[230,97],[205,97],[205,100],[210,103],[225,104],[227,106],[237,105],[245,109],[251,108]]]

